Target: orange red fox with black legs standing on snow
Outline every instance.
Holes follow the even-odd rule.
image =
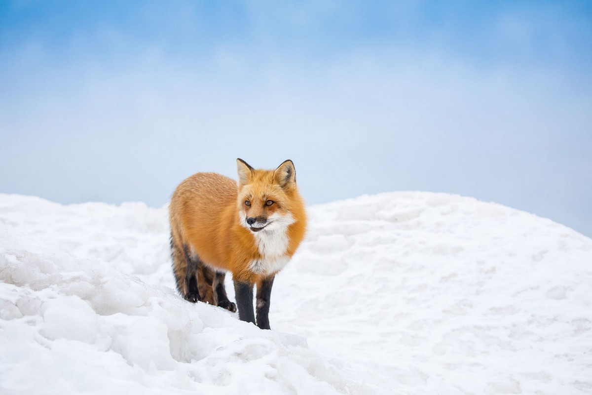
[[[239,319],[271,329],[276,274],[304,239],[307,216],[291,160],[275,170],[236,160],[238,180],[211,172],[189,176],[170,199],[170,253],[185,300],[239,311]],[[236,304],[224,280],[232,274]],[[256,286],[256,311],[253,288]]]

